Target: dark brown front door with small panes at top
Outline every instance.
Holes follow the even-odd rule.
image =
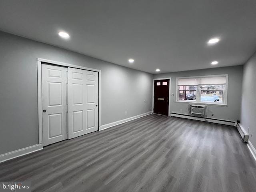
[[[169,115],[169,84],[170,80],[154,81],[154,113]]]

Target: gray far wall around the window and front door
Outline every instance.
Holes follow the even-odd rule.
[[[241,103],[241,87],[243,66],[232,66],[222,68],[211,68],[203,70],[191,70],[183,72],[173,72],[164,74],[155,74],[153,78],[171,77],[171,92],[174,96],[170,98],[170,111],[177,113],[188,114],[188,104],[182,102],[175,102],[176,97],[176,78],[189,76],[203,76],[228,74],[228,101],[227,106],[213,106],[208,105],[208,114],[210,118],[232,120],[236,121],[240,118],[240,103]],[[182,112],[180,110],[182,109]],[[212,117],[211,114],[214,114]]]

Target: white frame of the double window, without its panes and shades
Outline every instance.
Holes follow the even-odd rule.
[[[226,84],[224,84],[224,90],[219,90],[223,91],[223,98],[222,98],[222,103],[217,103],[217,102],[201,102],[201,91],[205,91],[201,89],[201,84],[200,84],[200,78],[209,78],[209,77],[225,77],[226,78]],[[178,80],[179,79],[188,79],[188,78],[196,78],[198,79],[198,85],[189,85],[189,86],[196,86],[196,100],[179,100],[179,93],[180,93],[180,86],[188,86],[188,85],[178,85]],[[208,84],[208,85],[217,85],[217,84]],[[223,85],[223,84],[222,84]],[[208,91],[208,90],[207,90]],[[218,91],[218,90],[214,90]],[[221,75],[206,75],[206,76],[189,76],[189,77],[177,77],[176,78],[176,100],[175,102],[186,102],[186,103],[200,103],[200,104],[210,104],[210,105],[222,105],[222,106],[227,106],[228,102],[228,74],[221,74]]]

